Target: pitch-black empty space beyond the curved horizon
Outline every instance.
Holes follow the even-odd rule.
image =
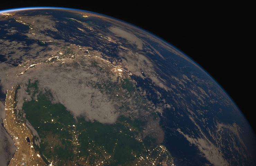
[[[252,4],[172,1],[4,1],[0,9],[56,6],[109,15],[167,40],[227,91],[255,130]],[[254,42],[255,43],[255,42]],[[254,46],[255,47],[255,46]]]

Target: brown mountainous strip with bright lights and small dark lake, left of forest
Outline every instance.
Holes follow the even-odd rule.
[[[7,91],[5,109],[6,119],[4,119],[4,127],[14,141],[17,150],[13,155],[9,166],[45,166],[46,163],[39,155],[39,152],[33,146],[33,134],[26,123],[19,122],[16,113],[16,89],[12,87]]]

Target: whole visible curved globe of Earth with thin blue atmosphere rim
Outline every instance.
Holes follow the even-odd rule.
[[[0,71],[1,166],[256,165],[255,133],[220,85],[126,22],[0,11]]]

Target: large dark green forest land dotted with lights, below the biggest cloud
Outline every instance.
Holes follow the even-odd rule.
[[[29,81],[27,91],[37,91],[37,82]],[[155,140],[141,140],[145,122],[126,117],[119,117],[114,124],[75,119],[64,105],[52,103],[47,96],[51,95],[39,94],[37,100],[22,107],[38,132],[41,142],[35,148],[47,164],[131,165],[139,157],[158,157]]]

